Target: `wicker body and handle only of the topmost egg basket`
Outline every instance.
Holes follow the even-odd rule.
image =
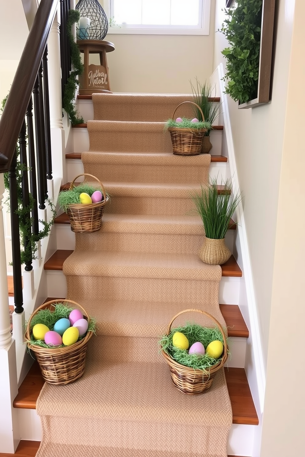
[[[202,115],[202,120],[204,122],[204,116],[202,109],[193,101],[182,101],[177,108],[175,109],[172,119],[174,120],[175,112],[179,106],[183,103],[191,103],[192,105],[197,106]],[[169,133],[171,134],[171,143],[173,147],[173,154],[177,155],[197,155],[201,153],[202,142],[204,133],[207,131],[206,128],[179,128],[179,127],[169,127]]]

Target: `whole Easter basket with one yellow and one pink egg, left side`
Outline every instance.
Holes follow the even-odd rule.
[[[75,186],[80,176],[91,176],[98,181],[100,189],[87,182]],[[59,207],[68,214],[72,232],[91,233],[101,228],[102,215],[109,197],[102,182],[88,173],[77,175],[68,190],[61,191],[58,196]]]

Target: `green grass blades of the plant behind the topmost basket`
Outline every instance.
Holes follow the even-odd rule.
[[[215,97],[214,88],[211,84],[207,83],[206,81],[203,84],[201,84],[197,78],[196,87],[192,84],[191,81],[190,83],[194,97],[193,101],[198,106],[200,106],[203,112],[205,122],[209,122],[211,124],[211,128],[208,128],[208,130],[205,133],[205,136],[209,136],[212,130],[213,123],[219,115],[219,103],[210,101],[211,98]],[[193,109],[197,119],[199,119],[199,121],[202,121],[203,119],[200,110],[196,106],[193,106]]]

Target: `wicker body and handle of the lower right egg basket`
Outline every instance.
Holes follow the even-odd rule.
[[[206,313],[205,311],[202,311],[201,309],[190,308],[190,309],[185,309],[183,311],[180,311],[180,313],[177,313],[176,316],[174,316],[171,319],[171,323],[169,324],[169,326],[167,328],[167,335],[169,335],[171,332],[171,324],[174,322],[174,320],[178,316],[180,316],[180,314],[187,313],[190,311],[204,314],[204,315],[208,316],[210,319],[212,319],[214,321],[214,323],[217,325],[217,327],[219,327],[221,335],[223,336],[223,339],[224,339],[224,351],[223,351],[222,359],[221,359],[221,361],[219,361],[218,363],[216,363],[215,365],[210,367],[209,372],[207,372],[207,373],[203,372],[202,370],[198,370],[198,369],[194,369],[191,367],[186,367],[184,365],[181,365],[180,363],[178,363],[174,359],[172,359],[171,356],[166,354],[166,352],[163,349],[161,349],[161,353],[170,367],[171,379],[172,379],[172,382],[175,384],[175,386],[184,393],[195,394],[195,393],[202,393],[211,387],[216,372],[221,367],[223,367],[225,365],[225,362],[227,361],[228,345],[226,342],[226,336],[225,336],[224,330],[222,329],[218,320],[216,320],[211,314]]]

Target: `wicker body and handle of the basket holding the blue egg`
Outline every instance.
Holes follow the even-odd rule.
[[[43,303],[43,305],[37,308],[31,315],[27,323],[27,330],[25,333],[26,340],[31,339],[32,331],[30,327],[32,318],[35,314],[41,309],[52,310],[52,308],[55,308],[56,303],[62,302],[72,304],[75,308],[79,308],[84,314],[84,318],[90,322],[89,315],[79,303],[73,302],[72,300],[50,300],[47,303]],[[91,331],[87,331],[86,336],[83,339],[65,347],[46,348],[27,343],[28,348],[34,352],[43,379],[47,383],[54,385],[69,384],[82,376],[85,371],[86,349],[92,333],[93,332]]]

